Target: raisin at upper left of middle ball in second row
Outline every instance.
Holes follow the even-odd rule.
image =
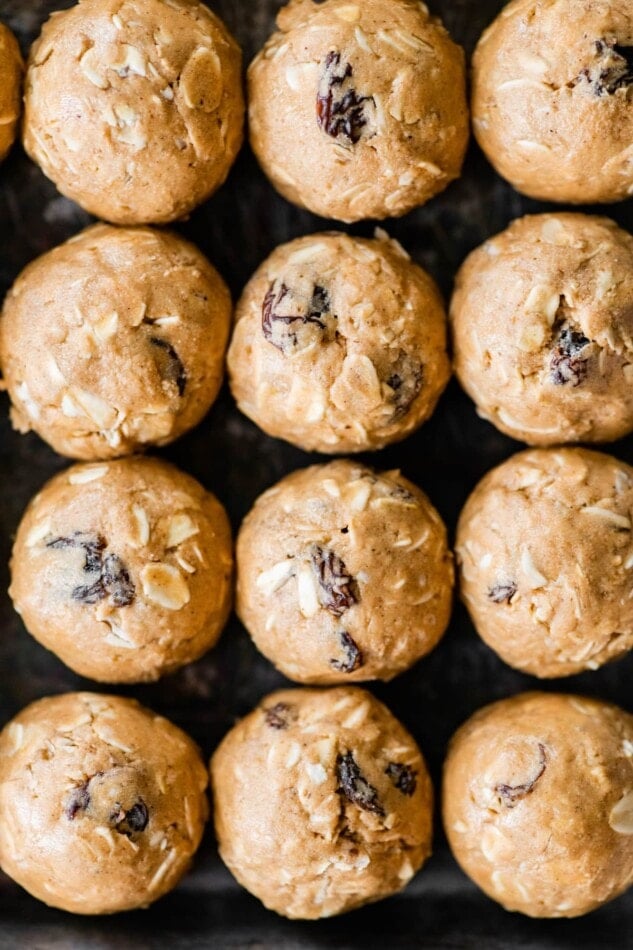
[[[262,332],[269,343],[285,354],[333,340],[337,319],[332,313],[330,295],[319,284],[313,285],[308,298],[283,282],[276,290],[273,281],[262,304]]]

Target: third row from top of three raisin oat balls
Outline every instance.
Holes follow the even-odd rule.
[[[460,592],[506,662],[539,677],[595,670],[633,646],[633,469],[580,448],[532,449],[489,472],[458,525]],[[156,459],[75,465],[18,528],[9,593],[76,672],[155,680],[217,641],[232,605],[228,519]],[[316,465],[264,492],[237,541],[237,613],[290,679],[389,680],[438,643],[453,560],[424,493],[399,472]]]

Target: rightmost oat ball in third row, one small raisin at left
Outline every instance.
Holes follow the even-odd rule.
[[[633,647],[633,468],[532,449],[489,472],[461,513],[462,598],[483,640],[534,676],[595,670]]]

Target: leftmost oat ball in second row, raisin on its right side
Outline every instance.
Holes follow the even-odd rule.
[[[229,291],[192,244],[88,228],[29,264],[5,300],[13,426],[88,461],[166,445],[217,396],[230,322]]]

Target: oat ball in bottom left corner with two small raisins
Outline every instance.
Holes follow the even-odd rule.
[[[192,740],[134,700],[40,699],[0,734],[0,866],[75,914],[147,907],[191,864],[207,784]]]

